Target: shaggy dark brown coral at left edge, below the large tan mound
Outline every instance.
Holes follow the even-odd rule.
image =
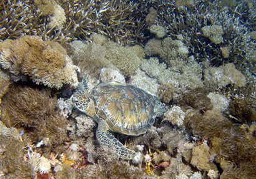
[[[12,86],[2,98],[1,109],[1,120],[7,127],[24,127],[37,142],[51,145],[66,139],[67,120],[50,90]]]

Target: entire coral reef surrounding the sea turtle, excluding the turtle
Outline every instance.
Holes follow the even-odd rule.
[[[0,1],[0,178],[256,178],[256,2]],[[115,80],[168,108],[99,145],[69,99]]]

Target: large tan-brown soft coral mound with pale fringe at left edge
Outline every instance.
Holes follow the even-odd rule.
[[[42,41],[37,36],[22,36],[15,41],[7,39],[0,43],[0,64],[3,69],[16,75],[28,75],[36,84],[61,88],[63,84],[78,85],[72,60],[57,42]]]

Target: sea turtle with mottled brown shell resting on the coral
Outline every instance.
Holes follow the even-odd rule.
[[[102,82],[89,94],[86,78],[79,83],[71,100],[76,109],[98,123],[96,137],[99,143],[115,147],[120,157],[127,160],[134,158],[135,152],[124,147],[108,131],[140,135],[154,124],[155,117],[166,111],[157,97],[134,85]]]

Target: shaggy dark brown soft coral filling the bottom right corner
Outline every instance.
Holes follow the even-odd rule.
[[[190,112],[184,123],[194,135],[209,141],[210,153],[216,155],[215,162],[222,165],[222,161],[227,160],[237,166],[237,169],[232,171],[223,167],[222,169],[229,170],[224,173],[232,173],[231,178],[252,178],[256,175],[252,167],[256,158],[254,124],[249,129],[245,125],[239,127],[214,110],[208,110],[205,115]]]

